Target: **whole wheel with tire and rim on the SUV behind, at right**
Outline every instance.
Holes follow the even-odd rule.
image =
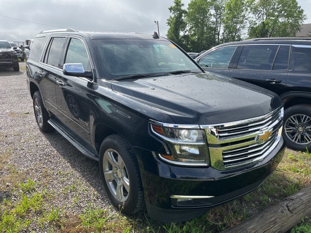
[[[311,105],[294,105],[284,111],[283,136],[294,150],[311,151]]]

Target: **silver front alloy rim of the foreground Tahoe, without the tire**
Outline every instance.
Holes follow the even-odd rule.
[[[130,193],[130,181],[125,164],[116,150],[105,151],[103,168],[109,191],[116,200],[125,202]]]

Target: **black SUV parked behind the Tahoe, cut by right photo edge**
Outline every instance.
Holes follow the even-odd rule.
[[[207,71],[253,83],[284,103],[287,146],[311,150],[311,38],[257,38],[225,43],[196,61]]]

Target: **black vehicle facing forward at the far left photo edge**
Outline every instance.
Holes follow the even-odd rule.
[[[13,67],[14,71],[19,71],[17,52],[13,50],[10,43],[0,40],[0,68]]]

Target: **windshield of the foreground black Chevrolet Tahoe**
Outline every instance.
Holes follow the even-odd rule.
[[[108,80],[124,76],[165,75],[176,71],[202,72],[170,41],[147,39],[94,40]],[[143,77],[143,76],[141,76]]]

